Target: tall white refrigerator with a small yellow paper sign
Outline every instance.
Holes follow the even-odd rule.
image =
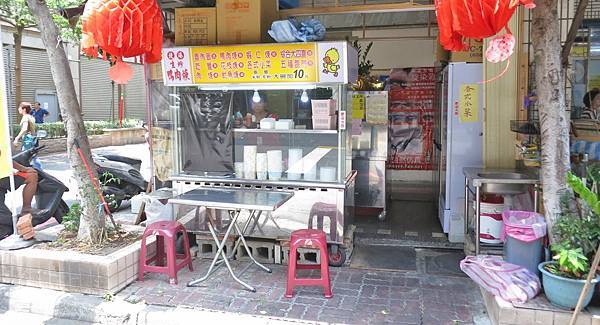
[[[434,183],[438,217],[451,242],[464,240],[464,167],[483,165],[483,66],[450,63],[438,74]]]

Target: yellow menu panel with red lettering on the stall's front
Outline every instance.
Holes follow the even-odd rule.
[[[190,48],[195,84],[317,82],[316,43]]]

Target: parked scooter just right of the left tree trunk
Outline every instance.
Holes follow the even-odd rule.
[[[119,155],[93,154],[100,182],[103,184],[103,195],[110,212],[121,207],[124,200],[146,191],[148,183],[142,177],[139,166],[142,161]],[[134,167],[135,166],[135,167]]]

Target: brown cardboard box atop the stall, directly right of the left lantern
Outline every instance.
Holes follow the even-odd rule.
[[[213,45],[217,42],[216,8],[176,8],[175,45]]]

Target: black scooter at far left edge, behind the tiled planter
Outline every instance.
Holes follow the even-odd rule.
[[[31,167],[33,158],[37,157],[37,154],[44,147],[37,145],[19,152],[13,156],[13,160],[25,167]],[[35,194],[36,208],[32,213],[32,224],[34,226],[39,225],[52,217],[60,223],[63,216],[69,212],[69,206],[62,199],[63,193],[67,192],[69,188],[43,170],[36,168],[36,171],[38,173],[38,185]],[[5,195],[6,191],[0,190],[0,238],[13,233],[12,212],[4,204]]]

